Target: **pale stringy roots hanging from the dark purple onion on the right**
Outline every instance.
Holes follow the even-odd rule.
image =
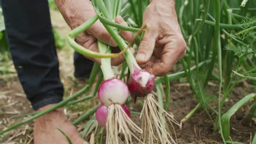
[[[141,135],[141,139],[144,143],[176,143],[177,138],[172,123],[177,125],[179,125],[179,123],[175,121],[171,113],[167,113],[162,109],[152,93],[144,98],[140,118],[142,119],[142,129],[146,132]],[[175,134],[175,140],[172,138],[167,123],[171,124]]]

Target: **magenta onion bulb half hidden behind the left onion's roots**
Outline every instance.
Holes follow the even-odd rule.
[[[126,105],[121,105],[121,107],[125,111],[126,115],[131,117],[131,112],[128,109],[128,107]],[[100,105],[96,110],[96,119],[98,124],[101,125],[101,127],[106,128],[107,117],[108,117],[108,106]]]

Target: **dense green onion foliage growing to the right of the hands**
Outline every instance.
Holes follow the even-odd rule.
[[[224,126],[219,122],[226,98],[231,97],[233,88],[242,78],[255,83],[256,19],[253,16],[256,9],[253,8],[256,1],[249,1],[245,8],[240,4],[241,1],[230,0],[221,1],[219,5],[217,1],[208,0],[176,1],[179,24],[188,46],[187,55],[181,61],[185,75],[207,113],[208,103],[212,102],[206,100],[208,82],[219,81],[218,118],[214,128],[220,129],[221,134]],[[211,62],[197,66],[206,59]],[[195,65],[196,70],[191,70],[191,65]],[[223,140],[225,143],[226,139]]]

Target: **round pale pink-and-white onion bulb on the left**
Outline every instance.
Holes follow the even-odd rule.
[[[126,84],[119,79],[109,79],[101,83],[98,88],[98,99],[104,105],[125,104],[129,96],[129,89]]]

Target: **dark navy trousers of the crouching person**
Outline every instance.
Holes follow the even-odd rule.
[[[11,57],[34,110],[63,96],[47,0],[1,0]],[[88,77],[93,62],[74,55],[75,76]]]

